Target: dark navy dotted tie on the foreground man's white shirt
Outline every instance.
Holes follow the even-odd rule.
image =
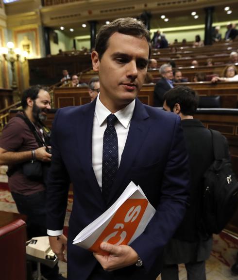
[[[107,117],[107,127],[103,135],[102,148],[102,195],[107,200],[118,171],[118,136],[114,127],[117,117]]]

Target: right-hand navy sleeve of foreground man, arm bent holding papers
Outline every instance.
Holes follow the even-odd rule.
[[[189,201],[188,156],[178,116],[171,139],[156,213],[144,233],[130,244],[142,259],[146,271],[161,263],[163,247],[182,221]]]

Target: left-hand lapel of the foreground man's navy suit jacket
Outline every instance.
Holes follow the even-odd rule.
[[[82,118],[80,119],[80,125],[76,134],[78,151],[80,151],[80,162],[89,182],[88,187],[91,187],[92,195],[94,194],[97,197],[97,201],[104,203],[102,192],[92,167],[92,128],[95,105],[96,99],[83,109]],[[101,205],[103,206],[104,204]]]

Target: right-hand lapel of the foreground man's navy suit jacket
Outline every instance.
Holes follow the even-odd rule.
[[[110,192],[108,202],[113,200],[113,197],[117,195],[117,193],[120,194],[127,187],[122,183],[127,173],[130,171],[132,163],[137,153],[139,153],[139,149],[141,148],[144,138],[147,135],[148,129],[150,127],[146,121],[148,118],[149,115],[146,109],[136,98],[136,106],[131,120],[125,147],[121,156],[119,170]]]

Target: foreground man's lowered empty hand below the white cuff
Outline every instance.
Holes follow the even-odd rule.
[[[62,262],[67,263],[65,251],[67,250],[67,237],[64,234],[59,236],[49,236],[52,251]]]

